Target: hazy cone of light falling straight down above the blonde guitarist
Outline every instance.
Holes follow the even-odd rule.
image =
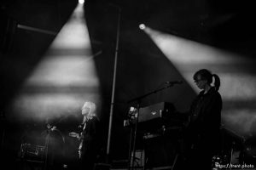
[[[50,45],[14,100],[15,118],[45,120],[80,115],[84,101],[100,105],[99,80],[90,50],[83,4]]]

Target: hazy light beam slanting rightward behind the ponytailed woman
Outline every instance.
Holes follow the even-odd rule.
[[[252,127],[256,127],[255,59],[149,27],[144,31],[197,93],[199,89],[193,80],[195,71],[206,68],[218,74],[221,79],[219,92],[224,100],[224,125],[236,133],[253,133]]]

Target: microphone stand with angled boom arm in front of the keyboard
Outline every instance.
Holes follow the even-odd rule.
[[[133,133],[134,137],[133,137],[133,141],[131,140],[131,142],[130,142],[130,148],[131,148],[131,143],[132,143],[132,153],[131,153],[131,150],[129,150],[129,168],[128,168],[129,170],[130,170],[130,168],[132,168],[132,169],[134,168],[135,150],[136,150],[135,145],[136,145],[136,138],[137,138],[137,124],[138,124],[139,109],[140,109],[140,105],[141,105],[142,99],[146,98],[147,96],[149,96],[151,94],[156,94],[156,93],[158,93],[158,92],[160,92],[160,91],[162,91],[162,90],[164,90],[166,88],[171,88],[174,84],[175,84],[174,82],[173,83],[170,82],[164,88],[156,89],[156,90],[154,90],[152,92],[149,92],[148,94],[143,94],[142,96],[139,96],[139,97],[137,97],[135,99],[131,99],[131,100],[129,100],[127,102],[129,104],[131,102],[137,101],[137,118],[136,118],[136,122],[135,122],[134,133]],[[131,166],[130,166],[130,164],[131,164]]]

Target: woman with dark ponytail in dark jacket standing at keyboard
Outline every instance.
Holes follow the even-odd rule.
[[[218,93],[219,77],[206,70],[196,71],[194,81],[200,94],[190,107],[186,140],[189,145],[189,166],[195,169],[212,169],[212,156],[219,149],[222,98]],[[214,80],[214,86],[212,86]]]

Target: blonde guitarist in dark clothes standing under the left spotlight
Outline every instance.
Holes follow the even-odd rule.
[[[101,127],[98,117],[96,116],[96,105],[86,101],[81,108],[84,116],[83,122],[79,126],[81,133],[79,139],[79,168],[93,170],[96,163],[96,156],[101,147]]]

